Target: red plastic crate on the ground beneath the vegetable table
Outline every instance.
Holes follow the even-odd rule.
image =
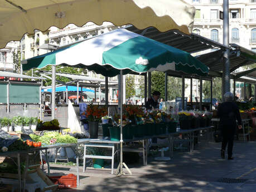
[[[76,175],[68,174],[62,176],[49,176],[54,184],[59,185],[59,189],[76,188]]]

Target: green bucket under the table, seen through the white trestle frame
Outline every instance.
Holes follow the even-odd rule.
[[[86,147],[89,155],[105,156],[107,151],[103,147]],[[87,153],[87,152],[86,152]],[[102,169],[104,166],[104,159],[93,159],[93,168]]]

